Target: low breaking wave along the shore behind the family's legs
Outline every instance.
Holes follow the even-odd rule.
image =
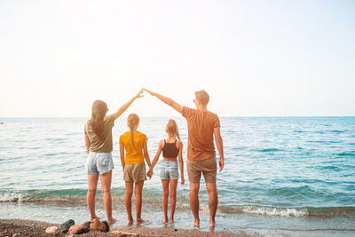
[[[67,190],[28,190],[9,191],[0,190],[0,202],[22,202],[51,204],[56,206],[86,206],[85,189]],[[156,193],[156,194],[155,194]],[[144,202],[150,209],[156,210],[161,207],[162,195],[157,192],[146,192]],[[114,188],[113,201],[124,205],[124,190]],[[97,199],[101,201],[102,194],[98,191]],[[149,208],[148,208],[149,209]],[[190,209],[190,203],[184,196],[177,196],[177,209]],[[201,202],[202,213],[209,212],[208,203]],[[248,214],[279,217],[350,217],[355,218],[355,207],[272,207],[260,205],[225,205],[221,203],[218,212],[227,214]]]

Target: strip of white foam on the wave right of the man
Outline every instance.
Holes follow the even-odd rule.
[[[292,209],[292,208],[271,208],[271,207],[245,207],[242,209],[245,213],[281,216],[281,217],[304,217],[308,216],[307,209]]]

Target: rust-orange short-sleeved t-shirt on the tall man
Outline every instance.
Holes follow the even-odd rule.
[[[189,107],[183,107],[182,115],[187,121],[187,159],[203,161],[216,156],[213,132],[221,126],[218,116]]]

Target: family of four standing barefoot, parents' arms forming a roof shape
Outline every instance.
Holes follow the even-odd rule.
[[[88,174],[87,203],[91,220],[98,218],[95,214],[95,194],[98,181],[101,181],[101,192],[103,194],[106,217],[109,224],[116,222],[112,217],[111,180],[114,162],[112,160],[112,128],[114,120],[130,107],[135,99],[142,97],[147,91],[152,96],[162,100],[165,104],[173,107],[183,115],[187,121],[188,142],[187,142],[187,175],[190,181],[190,206],[193,212],[193,225],[200,225],[199,218],[199,190],[201,173],[205,178],[206,188],[209,193],[209,226],[215,226],[217,211],[217,158],[214,139],[219,154],[219,171],[225,165],[223,153],[223,141],[220,135],[220,122],[216,114],[207,110],[209,94],[206,91],[195,92],[193,102],[196,109],[182,107],[174,100],[164,97],[153,91],[142,89],[138,94],[120,107],[113,115],[106,115],[108,112],[106,103],[102,100],[95,100],[92,105],[91,119],[86,122],[84,129],[85,146],[88,154],[86,171]],[[133,223],[131,212],[131,197],[136,196],[136,222],[146,222],[141,217],[142,190],[146,177],[152,178],[154,166],[162,154],[161,172],[162,179],[162,209],[163,221],[168,222],[168,198],[170,193],[170,222],[174,222],[174,211],[177,197],[178,170],[181,173],[181,184],[185,183],[184,161],[182,157],[183,143],[180,140],[177,123],[170,120],[165,131],[167,138],[159,142],[153,162],[150,162],[147,152],[146,134],[138,131],[139,117],[131,114],[127,118],[129,131],[120,137],[120,155],[122,162],[123,179],[125,181],[125,206],[128,215],[128,224]],[[149,170],[146,172],[146,164]]]

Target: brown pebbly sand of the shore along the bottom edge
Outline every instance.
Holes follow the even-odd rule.
[[[45,233],[45,229],[50,226],[59,226],[59,224],[51,224],[48,222],[25,220],[25,219],[0,219],[0,236],[12,236],[13,234],[20,233],[19,236],[60,236],[64,237],[67,233]],[[122,232],[122,233],[120,233]],[[241,237],[241,236],[260,236],[248,235],[247,233],[231,233],[226,231],[210,231],[205,232],[197,228],[192,230],[176,229],[174,227],[146,227],[146,226],[114,226],[108,233],[90,232],[83,233],[79,236],[226,236],[226,237]]]

